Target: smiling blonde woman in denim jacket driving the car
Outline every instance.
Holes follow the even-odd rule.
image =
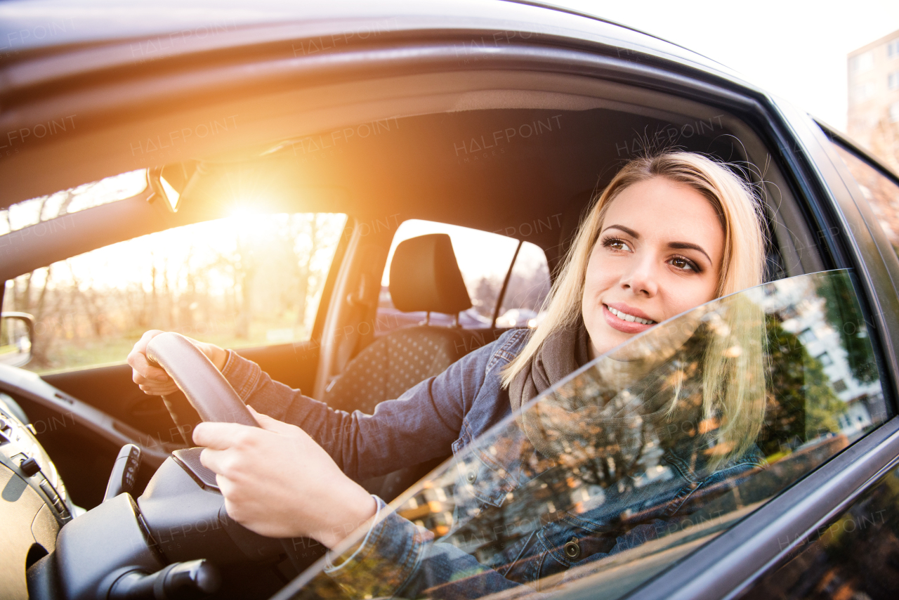
[[[533,333],[506,332],[436,378],[381,403],[374,415],[329,409],[271,381],[231,351],[200,345],[262,425],[198,425],[193,439],[206,446],[201,461],[218,473],[228,514],[257,533],[312,537],[335,548],[358,525],[367,527],[364,540],[328,570],[352,595],[419,597],[425,588],[457,582],[453,595],[481,596],[567,569],[577,561],[559,549],[566,536],[577,533],[564,527],[521,542],[502,571],[485,569],[449,544],[440,548],[400,516],[384,516],[384,503],[356,482],[450,449],[458,453],[592,359],[686,310],[760,284],[760,210],[747,184],[708,157],[669,152],[629,162],[594,201],[547,299],[547,317]],[[705,424],[699,429],[712,432],[701,452],[685,451],[702,461],[707,457],[704,470],[673,469],[672,494],[661,507],[665,515],[674,515],[690,490],[721,479],[734,465],[760,463],[752,454],[764,407],[763,326],[757,317],[749,305],[731,310],[728,322],[718,323],[717,335],[698,351],[701,389],[690,396],[678,383],[652,408],[664,422],[693,415],[693,422]],[[141,338],[129,363],[142,390],[162,395],[174,391],[174,382],[144,354],[158,333]],[[564,459],[571,451],[569,445],[553,446],[558,432],[547,431],[552,418],[529,421],[536,411],[520,414],[539,455]],[[690,438],[694,446],[696,439]],[[683,441],[672,442],[672,448],[677,444]],[[672,457],[672,463],[689,462],[677,452]],[[610,551],[617,550],[579,548],[576,558]],[[481,575],[473,580],[472,573]]]

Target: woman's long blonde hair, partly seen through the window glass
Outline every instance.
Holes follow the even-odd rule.
[[[548,336],[561,328],[577,326],[587,263],[612,201],[630,185],[654,177],[689,186],[716,210],[725,233],[716,298],[761,284],[765,264],[763,217],[749,184],[727,166],[690,152],[631,160],[596,197],[583,220],[544,302],[546,317],[503,370],[504,387],[534,358]],[[711,419],[709,423],[717,424],[717,450],[712,457],[716,466],[752,446],[761,431],[765,407],[766,337],[761,309],[752,302],[737,300],[729,307],[727,321],[726,335],[714,336],[707,346],[702,375],[703,413]],[[738,352],[734,352],[734,345]]]

